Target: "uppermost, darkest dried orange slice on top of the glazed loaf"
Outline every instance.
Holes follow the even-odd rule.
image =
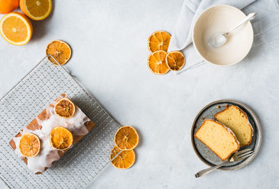
[[[68,119],[75,114],[75,104],[69,99],[61,99],[54,106],[54,113],[59,117]]]

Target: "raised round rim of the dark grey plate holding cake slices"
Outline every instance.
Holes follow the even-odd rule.
[[[191,131],[190,131],[191,144],[192,144],[192,147],[193,147],[193,149],[195,151],[195,154],[197,155],[199,160],[201,160],[204,164],[209,165],[209,167],[212,167],[214,164],[210,163],[209,161],[206,161],[201,156],[201,154],[199,154],[199,151],[197,151],[197,149],[195,147],[193,132],[195,130],[195,123],[197,122],[198,117],[204,112],[204,110],[206,110],[207,108],[209,108],[213,104],[217,104],[217,103],[234,103],[236,105],[239,104],[240,106],[243,106],[244,108],[246,108],[246,110],[248,110],[248,112],[250,113],[252,119],[255,121],[255,126],[257,127],[257,135],[258,135],[258,137],[257,137],[257,140],[255,142],[255,149],[254,149],[255,155],[254,156],[250,156],[245,161],[243,161],[243,163],[241,163],[239,165],[235,165],[235,166],[232,166],[232,167],[219,167],[217,169],[217,170],[221,170],[221,171],[239,170],[239,169],[245,167],[246,165],[248,165],[255,158],[255,156],[257,156],[257,154],[259,152],[259,149],[260,149],[260,147],[262,145],[262,126],[261,126],[261,123],[259,122],[259,118],[257,117],[257,115],[246,104],[243,104],[240,101],[236,101],[236,100],[232,100],[232,99],[221,99],[221,100],[213,101],[210,104],[207,104],[206,106],[204,106],[201,110],[199,110],[199,113],[197,113],[195,119],[193,120],[193,124],[191,126]]]

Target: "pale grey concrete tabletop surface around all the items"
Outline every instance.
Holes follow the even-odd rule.
[[[179,75],[151,74],[147,38],[156,30],[171,32],[182,3],[54,1],[50,17],[32,22],[31,42],[16,47],[0,38],[0,96],[45,56],[48,42],[65,40],[73,49],[66,68],[116,120],[140,133],[135,165],[107,167],[88,188],[279,188],[279,40],[273,37],[278,24],[232,67],[206,63]],[[257,8],[261,18],[267,9]],[[186,56],[186,68],[193,64]],[[239,100],[255,111],[262,148],[241,170],[195,179],[206,165],[190,144],[190,126],[203,106],[218,99]]]

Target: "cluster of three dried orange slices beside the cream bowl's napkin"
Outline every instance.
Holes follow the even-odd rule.
[[[151,51],[147,65],[153,74],[166,74],[169,70],[178,71],[185,64],[180,51],[167,53],[171,35],[165,31],[156,31],[149,36],[148,48]]]

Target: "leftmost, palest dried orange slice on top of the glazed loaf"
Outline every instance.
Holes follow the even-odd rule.
[[[33,133],[26,133],[20,138],[19,148],[22,156],[34,157],[40,151],[40,139]]]

